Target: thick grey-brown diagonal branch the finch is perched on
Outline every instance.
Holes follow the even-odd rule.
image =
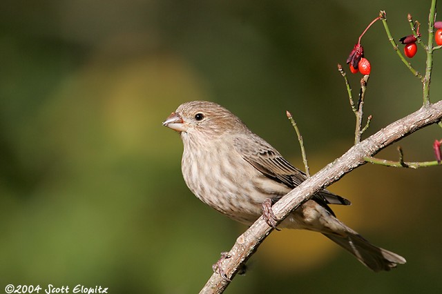
[[[350,148],[344,155],[328,164],[315,175],[302,182],[294,190],[282,197],[272,206],[274,215],[282,221],[291,210],[298,208],[303,202],[310,199],[318,190],[338,181],[343,175],[365,164],[364,157],[373,156],[380,150],[414,133],[416,130],[437,124],[442,120],[442,101],[427,104],[407,117],[398,119],[389,126],[379,130]],[[245,231],[229,251],[229,258],[222,263],[224,272],[230,280],[238,273],[241,266],[253,255],[258,246],[273,229],[260,217]],[[229,285],[218,273],[213,273],[200,293],[222,293]]]

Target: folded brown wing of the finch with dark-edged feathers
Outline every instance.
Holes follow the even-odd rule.
[[[293,189],[307,179],[305,173],[292,166],[275,148],[257,135],[236,137],[234,146],[242,158],[263,175],[289,188]],[[350,204],[348,199],[328,190],[321,190],[315,198],[325,204]]]

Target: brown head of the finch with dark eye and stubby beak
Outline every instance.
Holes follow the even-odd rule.
[[[236,115],[209,101],[190,101],[181,104],[167,117],[163,126],[188,135],[201,133],[211,136],[247,129]]]

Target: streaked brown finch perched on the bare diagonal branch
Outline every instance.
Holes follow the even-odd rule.
[[[213,102],[184,103],[163,125],[181,135],[182,175],[189,189],[205,204],[244,224],[262,215],[263,203],[278,201],[306,179],[236,115]],[[278,227],[323,233],[373,271],[405,264],[400,255],[370,244],[345,226],[328,204],[350,202],[321,190]]]

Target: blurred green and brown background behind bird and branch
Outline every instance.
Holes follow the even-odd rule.
[[[302,167],[285,117],[290,110],[316,172],[353,141],[354,115],[336,63],[345,63],[378,10],[387,11],[396,40],[410,34],[412,13],[426,41],[429,6],[409,0],[3,1],[1,287],[198,292],[211,264],[246,227],[186,188],[182,143],[161,122],[184,101],[216,101]],[[372,63],[369,134],[418,109],[421,85],[381,22],[363,46]],[[421,47],[412,61],[424,70]],[[441,70],[438,51],[433,101],[441,97]],[[359,79],[349,76],[354,95]],[[405,160],[433,160],[432,142],[440,138],[436,126],[405,138]],[[396,148],[379,156],[396,159]],[[441,175],[441,168],[366,165],[330,187],[353,202],[336,207],[340,219],[403,255],[405,266],[372,273],[320,234],[275,232],[227,293],[440,293]]]

